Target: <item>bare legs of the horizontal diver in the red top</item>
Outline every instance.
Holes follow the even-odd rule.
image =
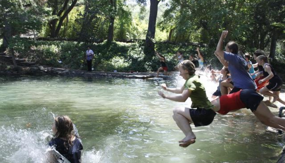
[[[254,115],[265,125],[285,131],[285,119],[272,114],[264,102],[260,102]]]

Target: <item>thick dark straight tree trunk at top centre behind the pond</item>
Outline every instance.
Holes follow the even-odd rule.
[[[151,6],[150,6],[150,12],[149,12],[149,26],[147,28],[147,35],[145,38],[145,59],[149,60],[151,57],[155,54],[154,50],[154,41],[155,38],[155,25],[156,25],[156,18],[157,18],[157,9],[158,9],[158,3],[160,0],[150,0]]]

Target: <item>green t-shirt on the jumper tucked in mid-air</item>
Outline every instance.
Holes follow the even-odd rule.
[[[188,80],[186,80],[185,89],[190,89],[191,94],[190,98],[192,101],[191,108],[205,108],[205,109],[211,109],[213,105],[209,101],[205,87],[200,82],[199,77],[197,75],[192,75]]]

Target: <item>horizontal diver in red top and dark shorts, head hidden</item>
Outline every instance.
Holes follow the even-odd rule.
[[[252,89],[222,95],[219,99],[211,101],[214,111],[227,114],[242,108],[248,108],[264,124],[285,131],[285,119],[275,116],[262,101],[263,97]]]

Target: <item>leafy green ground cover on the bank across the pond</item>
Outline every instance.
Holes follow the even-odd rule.
[[[160,67],[157,56],[153,55],[151,59],[145,59],[143,53],[144,42],[141,41],[136,43],[112,42],[108,44],[102,42],[86,44],[72,41],[37,40],[34,42],[26,38],[15,38],[9,44],[10,48],[14,47],[18,58],[25,58],[27,61],[33,61],[40,65],[72,69],[87,69],[85,61],[87,46],[90,46],[95,53],[92,63],[96,71],[156,71]],[[173,54],[176,54],[177,50],[182,50],[184,58],[187,59],[190,54],[197,53],[197,46],[190,44],[156,42],[155,47],[159,53],[165,56],[169,70],[173,70],[177,64],[177,59],[173,58]],[[200,49],[204,54],[206,65],[211,65],[215,69],[222,67],[213,55],[215,48],[201,46]],[[62,63],[58,61],[62,61]],[[277,54],[276,60],[272,61],[271,64],[278,74],[281,76],[285,74],[283,68],[285,66],[284,57]]]

